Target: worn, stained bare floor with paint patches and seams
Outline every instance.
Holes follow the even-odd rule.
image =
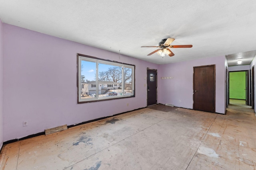
[[[253,170],[256,117],[158,105],[5,145],[0,170]]]

